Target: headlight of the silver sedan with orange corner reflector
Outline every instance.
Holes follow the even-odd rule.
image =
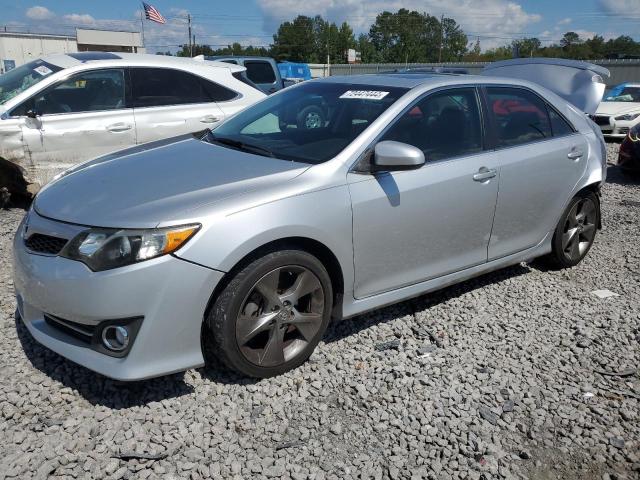
[[[145,230],[91,228],[73,238],[60,256],[100,272],[175,252],[199,228],[200,225]]]

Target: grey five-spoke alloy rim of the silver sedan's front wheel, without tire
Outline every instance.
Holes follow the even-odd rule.
[[[242,355],[274,367],[302,353],[322,326],[325,301],[318,277],[299,265],[260,278],[241,304],[236,341]]]

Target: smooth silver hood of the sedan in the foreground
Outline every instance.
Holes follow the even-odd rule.
[[[80,225],[153,228],[199,207],[282,184],[308,167],[189,136],[74,167],[40,191],[34,209]]]

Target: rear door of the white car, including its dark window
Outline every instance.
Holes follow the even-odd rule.
[[[213,81],[171,68],[131,68],[138,143],[213,128],[224,120],[216,100],[237,93]]]

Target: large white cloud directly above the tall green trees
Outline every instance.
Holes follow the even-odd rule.
[[[470,38],[479,36],[483,48],[507,43],[510,38],[526,32],[527,27],[542,17],[525,11],[510,0],[257,0],[265,17],[265,31],[275,31],[278,25],[297,15],[322,15],[334,21],[347,21],[356,32],[368,32],[375,17],[382,11],[400,8],[426,12],[455,19]]]

